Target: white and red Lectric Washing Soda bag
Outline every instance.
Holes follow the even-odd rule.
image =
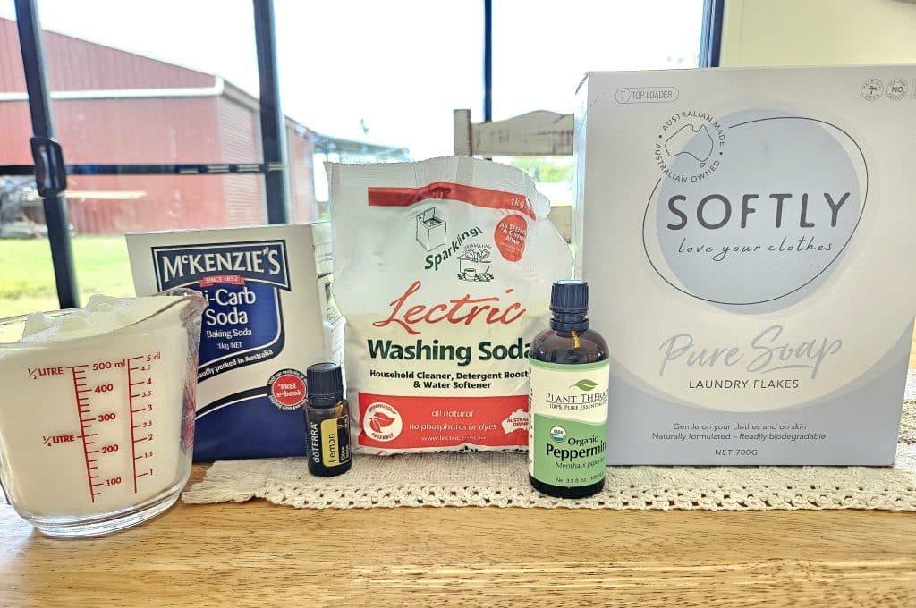
[[[326,167],[355,449],[527,446],[529,341],[573,264],[550,202],[468,157]]]

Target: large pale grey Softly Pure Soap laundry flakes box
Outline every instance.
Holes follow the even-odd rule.
[[[615,464],[894,460],[916,67],[591,72],[573,241]]]

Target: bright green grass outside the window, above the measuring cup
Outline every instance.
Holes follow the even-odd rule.
[[[93,293],[134,295],[123,236],[73,237],[73,262],[81,303]],[[0,240],[0,317],[58,308],[48,241]]]

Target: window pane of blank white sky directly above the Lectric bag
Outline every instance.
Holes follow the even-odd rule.
[[[322,219],[323,161],[450,156],[453,109],[482,106],[483,2],[275,0],[275,11],[282,106],[322,134]]]

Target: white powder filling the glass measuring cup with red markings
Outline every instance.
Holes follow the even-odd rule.
[[[0,473],[18,511],[114,513],[180,481],[191,367],[184,306],[167,308],[179,299],[93,296],[31,315],[17,342],[34,348],[0,351]]]

